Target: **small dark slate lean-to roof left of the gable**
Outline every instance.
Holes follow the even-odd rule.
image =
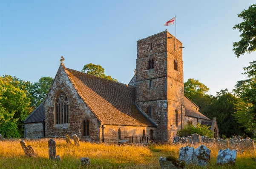
[[[44,101],[24,120],[24,123],[43,122],[44,120]]]

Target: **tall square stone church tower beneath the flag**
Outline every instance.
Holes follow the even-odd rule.
[[[157,124],[147,133],[170,142],[185,113],[182,43],[167,30],[138,40],[135,92],[138,106]]]

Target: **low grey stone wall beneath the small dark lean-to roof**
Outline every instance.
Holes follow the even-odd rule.
[[[43,137],[43,123],[26,123],[24,124],[25,138],[38,139]]]

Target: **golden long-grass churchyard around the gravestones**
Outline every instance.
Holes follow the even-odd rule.
[[[50,161],[48,140],[24,140],[37,153],[37,158],[26,157],[20,140],[0,141],[1,169],[160,169],[159,158],[173,155],[178,158],[180,147],[185,145],[155,144],[150,146],[117,144],[92,144],[80,142],[80,147],[66,144],[64,139],[55,139],[57,155],[62,161]],[[193,147],[198,147],[194,145]],[[235,166],[218,166],[216,158],[219,149],[216,144],[207,144],[211,150],[208,166],[187,165],[186,169],[256,169],[256,150],[237,153]],[[91,166],[82,166],[80,159],[89,157]]]

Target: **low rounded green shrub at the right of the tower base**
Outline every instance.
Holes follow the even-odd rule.
[[[214,132],[210,130],[210,127],[211,126],[200,125],[200,123],[198,123],[196,127],[193,125],[188,125],[178,131],[177,136],[185,137],[190,134],[199,134],[201,136],[208,136],[209,138],[213,138]]]

